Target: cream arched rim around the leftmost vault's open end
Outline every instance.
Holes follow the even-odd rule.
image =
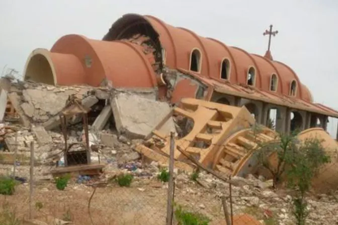
[[[28,56],[28,59],[27,59],[26,64],[25,64],[24,80],[28,80],[30,78],[31,68],[33,68],[32,66],[34,66],[34,65],[32,65],[32,63],[34,63],[34,60],[36,59],[36,57],[40,56],[40,57],[43,57],[43,59],[45,59],[48,62],[48,65],[50,67],[50,74],[49,75],[52,76],[53,83],[49,83],[49,84],[56,85],[57,84],[57,77],[56,77],[55,67],[54,67],[54,64],[53,64],[53,61],[51,59],[50,54],[51,53],[47,49],[44,49],[44,48],[34,49],[31,52],[31,54]],[[35,76],[36,76],[35,81],[41,82],[41,81],[38,81],[39,80],[38,74],[36,74]]]

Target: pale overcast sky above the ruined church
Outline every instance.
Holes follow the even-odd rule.
[[[0,73],[5,65],[22,73],[32,50],[50,49],[63,35],[102,39],[126,13],[153,15],[261,55],[273,24],[274,59],[298,74],[316,102],[338,109],[337,0],[0,0]]]

